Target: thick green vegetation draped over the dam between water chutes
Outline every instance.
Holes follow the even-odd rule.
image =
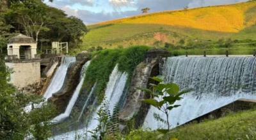
[[[129,77],[133,69],[142,61],[144,54],[149,50],[148,46],[131,46],[125,49],[107,49],[94,52],[92,62],[86,70],[84,86],[87,89],[92,88],[97,81],[95,93],[100,101],[104,97],[104,88],[109,80],[109,75],[118,63],[118,69],[127,72]],[[129,78],[130,80],[130,78]]]

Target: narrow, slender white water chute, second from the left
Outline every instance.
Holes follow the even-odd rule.
[[[80,74],[79,84],[77,85],[76,90],[74,91],[74,94],[72,95],[72,98],[68,102],[68,106],[65,110],[65,113],[62,113],[62,114],[56,116],[52,120],[52,122],[54,122],[54,123],[60,122],[61,120],[64,120],[65,118],[67,118],[70,115],[70,113],[72,111],[72,108],[73,108],[74,104],[76,103],[76,100],[77,100],[77,97],[78,97],[79,92],[81,90],[81,87],[83,86],[84,76],[86,75],[85,72],[86,72],[87,67],[90,65],[90,62],[91,61],[86,62],[84,64],[83,68],[82,68],[82,71],[81,71],[81,74]]]

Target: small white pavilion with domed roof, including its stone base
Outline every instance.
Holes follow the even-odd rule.
[[[10,83],[18,88],[40,82],[40,57],[36,55],[36,42],[33,38],[19,34],[7,44],[6,66],[13,69]]]

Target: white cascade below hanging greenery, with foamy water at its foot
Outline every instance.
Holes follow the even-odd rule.
[[[123,94],[126,81],[127,73],[120,73],[116,65],[115,69],[109,76],[109,82],[105,92],[105,101],[109,102],[109,111],[111,112],[111,114],[113,113],[113,108],[115,104],[118,103],[120,97]],[[93,130],[97,127],[99,122],[95,120],[95,118],[97,118],[97,111],[99,110],[99,108],[100,106],[97,107],[96,111],[93,111],[92,118],[88,123],[87,130]],[[76,139],[76,136],[78,135],[84,137],[84,133],[86,133],[86,128],[67,132],[65,134],[61,134],[60,136],[54,136],[52,137],[52,139]],[[88,134],[87,139],[92,139],[90,137],[90,134]]]

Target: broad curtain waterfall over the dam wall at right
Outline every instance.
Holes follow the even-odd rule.
[[[180,90],[193,88],[184,94],[179,108],[170,111],[172,127],[193,120],[237,99],[256,99],[256,57],[169,57],[164,62],[165,82],[179,85]],[[164,118],[161,111],[150,107],[144,128],[167,128],[153,115]]]

